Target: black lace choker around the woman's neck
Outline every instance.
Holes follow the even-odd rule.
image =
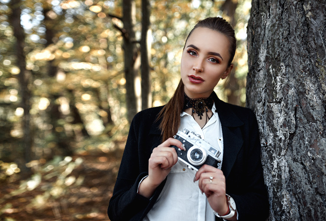
[[[192,99],[185,94],[185,105],[183,107],[183,111],[187,110],[188,108],[192,108],[191,115],[194,117],[194,113],[196,112],[200,117],[200,119],[202,119],[204,112],[206,112],[206,118],[207,118],[208,109],[211,110],[213,104],[214,104],[213,93],[211,93],[208,98],[196,98],[196,99]],[[208,117],[208,119],[209,118],[210,117]]]

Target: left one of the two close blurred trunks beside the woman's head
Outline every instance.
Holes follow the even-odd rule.
[[[141,88],[138,70],[140,66],[139,51],[135,42],[134,25],[136,20],[136,5],[134,0],[123,0],[123,49],[124,49],[124,72],[126,86],[126,105],[128,120],[140,111]]]

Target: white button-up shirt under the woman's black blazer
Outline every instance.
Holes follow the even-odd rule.
[[[182,112],[179,130],[186,128],[201,135],[212,147],[220,147],[219,158],[222,159],[222,127],[215,110],[214,104],[214,114],[203,129],[190,114]],[[221,166],[218,168],[221,169]],[[179,160],[167,175],[166,184],[144,221],[214,221],[215,215],[205,194],[201,193],[198,182],[194,183],[195,174],[196,171]]]

